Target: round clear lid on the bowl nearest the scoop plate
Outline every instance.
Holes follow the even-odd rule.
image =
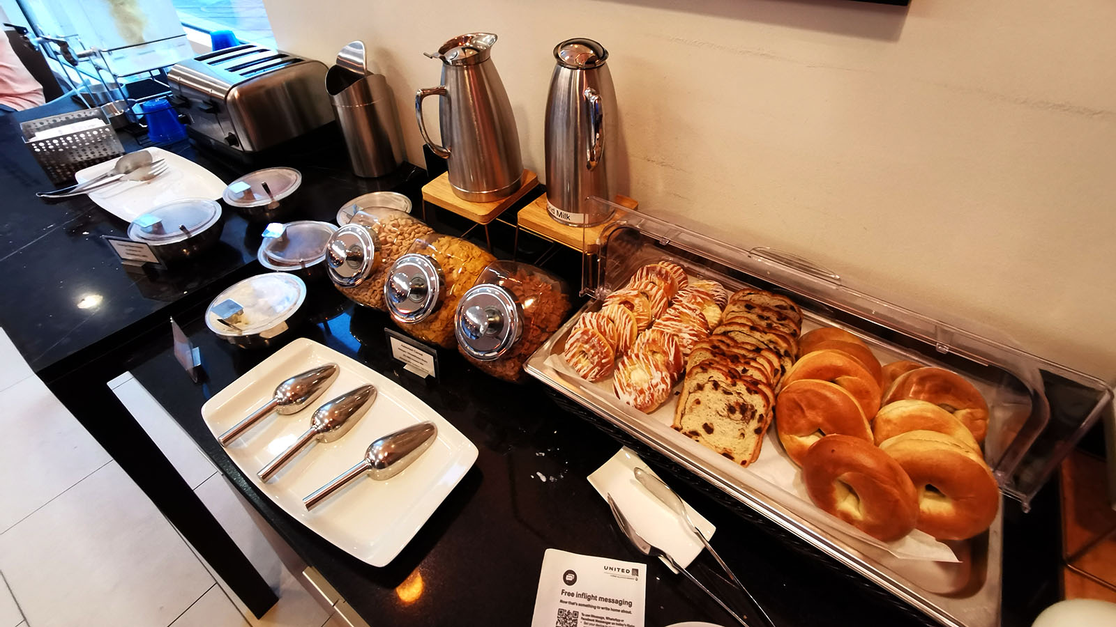
[[[221,336],[267,336],[298,311],[305,299],[306,283],[295,274],[257,274],[219,293],[205,309],[205,326]]]

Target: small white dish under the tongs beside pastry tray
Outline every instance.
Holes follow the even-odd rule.
[[[607,499],[607,495],[612,494],[616,507],[632,523],[636,533],[666,551],[682,568],[686,568],[705,547],[673,510],[636,481],[634,471],[637,467],[658,476],[639,459],[639,455],[624,446],[604,465],[593,471],[588,478],[589,483],[603,499]],[[705,517],[691,508],[690,503],[685,503],[685,507],[690,520],[694,521],[698,529],[701,529],[712,543],[713,532],[716,531],[716,528],[713,527],[712,522],[705,520]],[[663,563],[670,568],[666,560],[663,560]]]

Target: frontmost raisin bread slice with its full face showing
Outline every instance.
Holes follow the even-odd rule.
[[[689,384],[679,402],[676,431],[741,465],[754,462],[771,425],[770,404],[759,382],[738,379],[732,387]]]

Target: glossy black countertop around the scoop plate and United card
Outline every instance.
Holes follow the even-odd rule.
[[[523,386],[500,382],[455,351],[440,351],[442,380],[419,379],[387,355],[384,327],[393,326],[387,316],[354,307],[328,321],[306,324],[295,335],[325,344],[400,383],[445,416],[480,454],[461,484],[387,567],[373,568],[333,547],[259,492],[202,422],[205,399],[272,350],[247,351],[217,340],[200,314],[193,312],[185,330],[201,347],[205,380],[193,384],[187,378],[165,334],[142,343],[145,348],[133,353],[128,368],[263,518],[369,624],[527,625],[548,548],[650,563],[648,626],[683,620],[733,624],[696,588],[635,552],[617,532],[607,504],[585,479],[617,451],[614,440],[564,412],[538,382]],[[718,527],[718,550],[777,625],[924,621],[844,567],[799,552],[686,482],[664,478]],[[1030,514],[1008,504],[1004,625],[1029,625],[1039,609],[1057,600],[1056,550],[1051,552],[1057,543],[1057,499],[1050,492],[1043,492]],[[695,563],[699,577],[709,578],[715,569],[708,554]],[[422,579],[417,600],[405,600],[396,591],[408,577],[411,585],[414,577]]]

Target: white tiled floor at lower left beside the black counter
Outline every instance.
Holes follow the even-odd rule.
[[[125,375],[117,395],[271,583],[257,619],[32,375],[0,330],[0,627],[329,627],[235,493]],[[333,619],[333,621],[330,621]]]

